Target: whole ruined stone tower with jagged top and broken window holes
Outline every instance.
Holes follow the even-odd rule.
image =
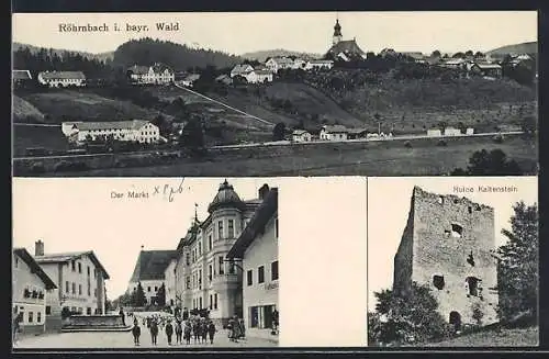
[[[497,322],[498,295],[494,210],[457,195],[418,187],[394,257],[393,291],[406,295],[412,282],[428,284],[438,311],[460,327]]]

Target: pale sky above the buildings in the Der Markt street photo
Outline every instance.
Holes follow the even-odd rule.
[[[260,178],[227,179],[243,200],[257,198]],[[224,178],[186,179],[181,194],[168,198],[111,199],[131,189],[154,192],[156,186],[177,189],[181,179],[23,179],[13,183],[13,246],[34,255],[44,242],[45,254],[93,250],[111,279],[108,296],[122,294],[145,250],[176,249],[194,217],[208,216],[208,204]],[[267,183],[271,184],[269,180]]]

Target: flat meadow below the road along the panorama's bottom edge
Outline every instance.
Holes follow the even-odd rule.
[[[535,172],[537,149],[531,141],[507,138],[495,144],[488,138],[457,138],[447,147],[434,141],[363,143],[349,146],[293,146],[284,150],[248,149],[233,157],[216,156],[206,161],[168,166],[97,169],[48,176],[141,177],[141,176],[439,176],[464,168],[475,150],[501,148],[518,161],[525,172]]]

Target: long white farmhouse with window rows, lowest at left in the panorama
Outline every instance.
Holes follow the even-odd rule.
[[[113,122],[64,122],[61,131],[69,142],[86,143],[112,136],[115,141],[154,144],[160,141],[160,130],[144,120]]]

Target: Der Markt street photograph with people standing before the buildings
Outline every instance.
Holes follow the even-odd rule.
[[[278,346],[278,209],[270,178],[14,178],[13,348]]]

